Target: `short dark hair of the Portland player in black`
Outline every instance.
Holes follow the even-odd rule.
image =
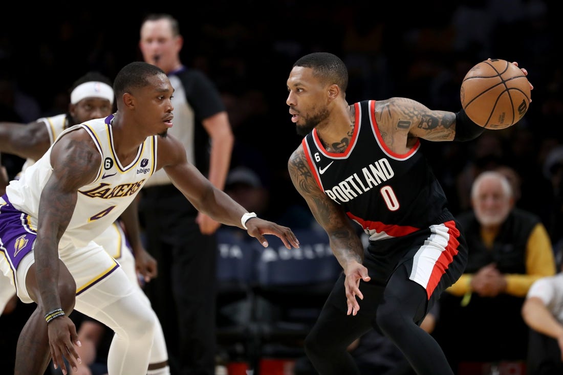
[[[301,57],[293,66],[311,68],[313,75],[330,84],[337,84],[346,92],[348,87],[348,69],[344,62],[333,53],[313,52]]]

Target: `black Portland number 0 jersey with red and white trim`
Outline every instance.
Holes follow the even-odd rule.
[[[344,153],[327,152],[316,129],[302,141],[320,189],[370,240],[400,237],[452,218],[444,191],[420,152],[420,141],[406,154],[394,153],[379,132],[375,101],[354,106],[354,134]]]

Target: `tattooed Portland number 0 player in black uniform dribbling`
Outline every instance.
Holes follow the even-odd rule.
[[[467,245],[420,139],[468,141],[484,128],[463,110],[401,97],[348,105],[347,83],[342,60],[325,52],[301,57],[287,80],[289,113],[305,136],[289,174],[343,268],[305,340],[307,356],[321,375],[359,374],[346,348],[374,328],[418,374],[452,375],[419,324],[463,273]],[[369,236],[365,250],[352,222]]]

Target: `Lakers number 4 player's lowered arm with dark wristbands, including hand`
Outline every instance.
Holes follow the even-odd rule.
[[[96,178],[101,165],[101,155],[85,130],[62,136],[53,146],[50,158],[52,173],[39,200],[34,247],[36,286],[31,290],[28,287],[44,313],[62,305],[58,289],[59,241],[73,215],[78,189]],[[65,369],[62,360],[65,356],[75,367],[79,356],[73,344],[78,335],[72,320],[66,315],[60,316],[51,320],[47,327],[53,363]]]

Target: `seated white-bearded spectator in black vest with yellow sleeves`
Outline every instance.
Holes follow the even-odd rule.
[[[441,298],[439,322],[439,341],[451,351],[446,356],[454,370],[460,363],[523,364],[526,359],[522,303],[531,284],[555,274],[556,266],[539,217],[515,208],[514,202],[502,173],[482,172],[471,187],[472,211],[457,217],[466,233],[468,262]]]

